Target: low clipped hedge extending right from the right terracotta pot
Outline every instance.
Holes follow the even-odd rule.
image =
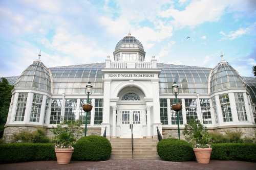
[[[212,144],[211,159],[256,162],[255,143]]]

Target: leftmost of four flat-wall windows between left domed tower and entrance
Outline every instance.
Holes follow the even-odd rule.
[[[61,118],[62,99],[52,99],[50,124],[59,124]]]

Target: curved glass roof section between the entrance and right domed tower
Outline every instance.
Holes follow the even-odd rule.
[[[210,68],[157,63],[160,93],[173,93],[173,83],[179,85],[179,93],[207,94]]]

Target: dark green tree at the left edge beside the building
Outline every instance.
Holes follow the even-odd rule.
[[[5,78],[2,78],[2,82],[0,81],[0,138],[4,134],[4,126],[7,120],[13,87]]]

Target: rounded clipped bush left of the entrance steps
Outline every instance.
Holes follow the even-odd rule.
[[[108,160],[112,149],[108,139],[96,135],[80,138],[74,148],[72,159],[79,161]]]

